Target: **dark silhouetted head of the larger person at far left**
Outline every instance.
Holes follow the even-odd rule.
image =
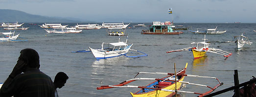
[[[30,68],[37,68],[39,69],[40,67],[40,61],[39,61],[39,55],[36,52],[36,50],[31,49],[31,48],[26,48],[21,50],[21,55],[19,57],[19,60],[23,60],[28,67]]]

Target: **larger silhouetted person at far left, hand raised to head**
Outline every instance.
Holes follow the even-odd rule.
[[[54,84],[39,70],[38,53],[31,48],[21,50],[17,64],[0,89],[0,97],[54,97]]]

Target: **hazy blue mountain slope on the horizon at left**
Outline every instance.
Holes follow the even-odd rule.
[[[74,18],[32,15],[18,10],[0,9],[0,22],[88,22]]]

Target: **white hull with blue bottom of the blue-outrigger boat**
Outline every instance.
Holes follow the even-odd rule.
[[[106,58],[114,58],[114,57],[126,55],[131,47],[132,47],[132,45],[129,45],[125,49],[118,50],[118,51],[105,51],[105,50],[100,50],[100,49],[93,49],[91,47],[89,47],[89,48],[92,51],[93,56],[96,59],[106,59]]]

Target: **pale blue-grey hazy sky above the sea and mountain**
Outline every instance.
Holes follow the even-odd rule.
[[[0,0],[0,9],[94,22],[256,23],[255,5],[256,0]]]

